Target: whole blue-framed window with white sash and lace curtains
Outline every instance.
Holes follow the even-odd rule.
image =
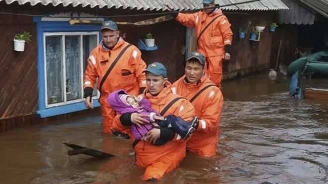
[[[71,25],[68,21],[43,21],[41,17],[33,17],[33,22],[37,26],[37,113],[41,118],[46,118],[85,110],[82,99],[82,73],[86,67],[83,60],[86,60],[85,56],[89,53],[83,52],[86,44],[82,43],[86,43],[84,40],[91,40],[93,45],[97,45],[101,26]],[[94,107],[100,106],[95,100],[98,96],[99,94],[94,93]]]

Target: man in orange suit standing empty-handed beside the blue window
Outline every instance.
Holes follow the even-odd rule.
[[[102,41],[91,51],[87,60],[83,85],[84,104],[87,108],[93,109],[92,91],[98,79],[103,132],[111,134],[115,112],[109,106],[107,96],[119,89],[124,89],[131,95],[140,94],[146,87],[146,76],[143,73],[146,63],[141,59],[139,49],[119,36],[120,32],[115,22],[105,21],[100,31]],[[117,62],[113,64],[115,60]]]

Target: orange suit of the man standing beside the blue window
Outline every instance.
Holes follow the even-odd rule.
[[[120,38],[112,50],[104,48],[102,43],[93,49],[87,60],[83,88],[93,88],[98,78],[97,89],[99,90],[99,83],[108,68],[128,44]],[[143,73],[145,69],[146,63],[141,59],[141,52],[137,47],[131,46],[108,75],[102,85],[99,99],[104,133],[111,134],[112,121],[115,117],[115,112],[107,102],[108,95],[119,89],[124,89],[131,95],[138,95],[139,88],[146,87],[146,75]]]

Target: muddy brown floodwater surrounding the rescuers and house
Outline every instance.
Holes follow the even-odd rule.
[[[265,74],[223,83],[225,106],[213,158],[188,153],[167,184],[328,183],[328,102],[297,100]],[[128,140],[101,134],[101,117],[0,133],[1,184],[138,184]],[[62,142],[105,150],[68,156]]]

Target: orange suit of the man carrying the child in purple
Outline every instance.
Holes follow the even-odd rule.
[[[144,93],[144,97],[151,101],[151,107],[157,112],[161,112],[169,102],[179,97],[171,92],[169,82],[167,82],[166,86],[157,96],[152,96],[147,90]],[[168,115],[175,115],[185,121],[190,121],[195,116],[195,111],[188,100],[180,99],[168,109],[164,117]],[[124,131],[130,127],[123,126],[118,115],[115,117],[113,128],[118,131]],[[130,134],[130,137],[132,141],[135,141],[132,134]],[[146,168],[142,179],[145,181],[151,178],[161,179],[165,173],[178,167],[185,157],[186,141],[182,140],[177,134],[171,141],[161,146],[155,146],[140,140],[134,147],[134,150],[136,152],[137,165]]]

